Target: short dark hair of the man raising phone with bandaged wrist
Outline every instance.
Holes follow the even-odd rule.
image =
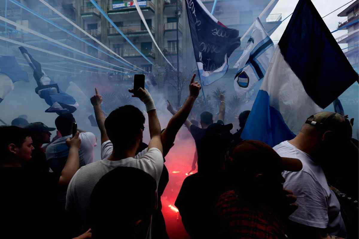
[[[127,149],[135,144],[144,123],[145,116],[137,107],[124,105],[108,115],[105,128],[113,147]]]

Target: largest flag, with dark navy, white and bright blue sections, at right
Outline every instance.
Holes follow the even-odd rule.
[[[309,0],[299,0],[271,59],[242,138],[275,146],[295,137],[358,79]]]

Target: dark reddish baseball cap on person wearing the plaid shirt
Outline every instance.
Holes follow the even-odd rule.
[[[256,169],[273,174],[282,171],[298,172],[303,168],[299,159],[280,157],[268,144],[258,140],[243,140],[233,149],[231,157],[233,168],[248,171]]]

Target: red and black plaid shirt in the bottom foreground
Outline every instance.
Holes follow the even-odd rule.
[[[288,238],[279,216],[270,210],[249,206],[237,197],[235,191],[225,192],[219,197],[216,211],[226,238]]]

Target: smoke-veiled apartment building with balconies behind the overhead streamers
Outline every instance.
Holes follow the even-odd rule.
[[[39,1],[18,0],[18,2],[41,16],[36,16],[8,0],[2,1],[2,4],[0,5],[0,15],[56,39],[68,46],[79,49],[91,56],[109,62],[112,65],[129,68],[119,62],[118,59],[115,59],[116,57],[113,57],[113,55],[106,49],[99,46],[97,42],[81,33],[73,25],[62,19],[61,16],[57,15]],[[126,59],[126,61],[135,64],[141,69],[144,69],[147,72],[155,72],[157,67],[168,65],[160,52],[155,48],[154,43],[131,0],[97,0],[96,2],[122,33],[125,34],[126,38],[139,49],[141,53],[137,52],[136,49],[134,49],[134,47],[132,47],[131,44],[117,32],[117,30],[106,18],[104,18],[89,0],[48,0],[47,2],[84,29],[87,33],[91,34],[118,55]],[[202,2],[206,8],[209,10],[212,9],[214,4],[213,0],[202,0]],[[239,34],[243,35],[269,2],[270,0],[218,0],[214,10],[214,16],[227,27],[238,29]],[[171,62],[175,68],[179,66],[179,71],[187,69],[187,71],[190,70],[196,72],[196,63],[188,27],[185,1],[151,0],[138,1],[138,3],[151,33],[168,61]],[[270,34],[274,32],[281,22],[281,14],[269,15],[274,6],[275,4],[271,6],[267,11],[267,14],[261,19],[265,29]],[[61,28],[78,36],[80,40],[73,35],[66,33],[64,30],[46,22],[44,19],[53,21]],[[68,49],[55,47],[53,43],[49,43],[36,35],[17,32],[16,28],[14,29],[14,27],[9,24],[7,27],[5,27],[4,24],[1,24],[0,32],[6,32],[6,36],[13,40],[24,42],[68,57],[78,58],[83,61],[102,65],[98,60],[83,57],[76,53],[74,54],[74,52],[71,52]],[[241,47],[233,52],[230,58],[230,68],[233,67],[234,63],[241,55],[249,37],[250,34],[247,35],[246,39],[241,39]],[[88,42],[91,46],[84,43],[84,41]],[[9,45],[11,46],[10,43]],[[4,46],[4,44],[2,44],[2,46]],[[0,51],[4,50],[9,54],[9,50],[6,47],[2,48],[2,50],[0,49]],[[43,52],[36,52],[36,56],[41,57],[38,59],[42,62],[46,62],[45,64],[51,65],[52,67],[50,67],[50,70],[57,69],[57,76],[61,76],[62,71],[64,71],[64,74],[66,74],[66,72],[74,72],[77,74],[85,74],[87,75],[87,78],[92,81],[101,81],[106,75],[106,71],[101,68],[83,68],[80,67],[81,64],[76,65],[76,63],[69,61],[54,60],[54,57],[48,56],[48,54]],[[108,67],[113,68],[111,65]],[[81,70],[80,73],[73,70],[74,68]],[[230,79],[234,77],[235,73],[236,69],[230,69],[224,77],[224,80],[221,79],[220,81],[215,82],[209,89],[218,86],[227,87],[227,84],[232,84],[233,79]],[[118,84],[121,81],[132,81],[132,77],[127,77],[126,74],[128,75],[128,73],[115,74],[114,77],[110,76],[109,79],[118,81],[114,82],[114,84]],[[157,83],[158,87],[166,92],[170,99],[175,100],[177,98],[176,87],[172,87],[168,84],[166,85],[165,83],[163,84],[163,82]],[[187,87],[185,87],[185,89],[187,89]]]

